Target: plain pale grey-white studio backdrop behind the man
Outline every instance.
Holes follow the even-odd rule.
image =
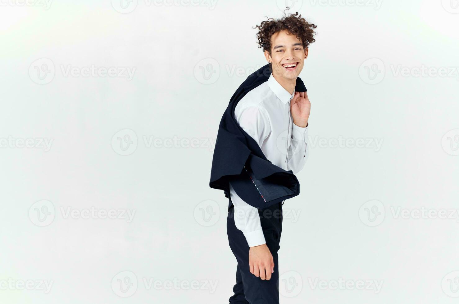
[[[1,1],[1,303],[231,295],[212,143],[235,89],[265,64],[252,27],[284,1],[121,4]],[[319,34],[301,73],[311,154],[284,205],[281,303],[457,303],[457,5],[293,4]]]

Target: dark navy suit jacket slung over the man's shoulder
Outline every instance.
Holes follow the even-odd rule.
[[[263,209],[290,199],[300,193],[300,183],[291,170],[272,164],[257,142],[237,123],[234,110],[247,92],[268,81],[271,69],[263,66],[252,73],[229,100],[218,127],[213,151],[209,186],[224,190],[229,198],[229,183],[247,204]],[[306,92],[302,80],[297,78],[297,92]],[[229,208],[231,208],[231,200]]]

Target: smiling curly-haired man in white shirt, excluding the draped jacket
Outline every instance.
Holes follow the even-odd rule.
[[[309,152],[307,132],[311,104],[308,94],[295,92],[295,88],[308,58],[308,45],[315,41],[314,28],[314,24],[298,13],[257,25],[258,44],[272,73],[266,82],[247,92],[234,108],[235,120],[255,140],[266,159],[280,170],[293,173],[303,168]],[[262,192],[269,191],[252,177],[250,175],[252,188],[257,188],[266,202]],[[251,199],[241,198],[245,193],[236,191],[236,184],[235,179],[229,179],[227,232],[238,262],[234,295],[229,302],[278,304],[277,251],[283,201],[257,208]]]

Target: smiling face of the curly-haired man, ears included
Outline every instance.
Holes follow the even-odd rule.
[[[296,80],[303,69],[304,60],[308,58],[308,49],[296,35],[283,30],[271,37],[271,52],[264,52],[266,60],[271,62],[273,75],[286,80]]]

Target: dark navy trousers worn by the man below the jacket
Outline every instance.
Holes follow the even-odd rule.
[[[265,209],[258,209],[261,227],[266,245],[274,259],[274,273],[271,279],[262,280],[250,273],[249,246],[241,230],[234,222],[234,207],[228,211],[226,230],[229,247],[237,260],[236,284],[234,295],[229,298],[230,304],[279,304],[279,250],[280,234],[282,232],[282,203]]]

